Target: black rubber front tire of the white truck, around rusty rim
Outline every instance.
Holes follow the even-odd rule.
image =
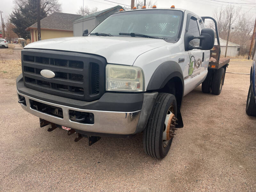
[[[172,138],[168,142],[163,141],[163,133],[166,129],[165,119],[167,114],[170,114],[170,108],[174,116],[177,116],[175,96],[169,93],[159,93],[149,116],[147,127],[143,131],[144,151],[157,159],[164,158],[172,144]]]

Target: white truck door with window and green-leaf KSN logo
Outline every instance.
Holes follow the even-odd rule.
[[[199,29],[198,19],[194,15],[188,14],[185,33],[188,35],[200,36],[200,31],[201,28]],[[193,39],[189,42],[189,44],[191,46],[199,46],[200,40]],[[186,51],[185,62],[187,65],[185,65],[185,71],[183,74],[185,84],[184,95],[192,91],[195,87],[204,81],[208,68],[208,63],[205,58],[205,51],[203,50],[192,49]]]

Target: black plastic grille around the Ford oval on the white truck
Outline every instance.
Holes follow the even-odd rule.
[[[21,55],[23,81],[31,89],[85,101],[97,100],[105,92],[103,57],[39,49],[25,49]],[[53,71],[55,77],[44,78],[43,69]]]

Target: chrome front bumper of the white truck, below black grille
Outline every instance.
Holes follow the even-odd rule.
[[[18,92],[18,91],[17,91]],[[84,110],[79,108],[72,108],[68,106],[58,105],[50,103],[43,100],[38,100],[36,98],[24,95],[18,92],[19,95],[25,97],[27,106],[20,104],[21,107],[28,111],[29,113],[47,120],[49,122],[63,125],[69,128],[82,130],[85,132],[96,132],[96,133],[107,133],[107,134],[120,134],[120,135],[129,135],[136,132],[136,128],[140,119],[139,111],[133,112],[115,112],[115,111],[96,111],[96,110]],[[38,101],[47,105],[52,105],[55,107],[62,108],[63,118],[52,116],[30,107],[29,100]],[[69,119],[69,110],[87,112],[94,114],[94,124],[82,124],[78,122],[71,121]]]

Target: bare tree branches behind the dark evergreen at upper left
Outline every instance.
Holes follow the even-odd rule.
[[[13,0],[13,2],[18,8],[28,4],[29,0]],[[61,12],[61,3],[59,3],[59,0],[41,0],[41,8],[47,15],[50,15],[53,12]]]

